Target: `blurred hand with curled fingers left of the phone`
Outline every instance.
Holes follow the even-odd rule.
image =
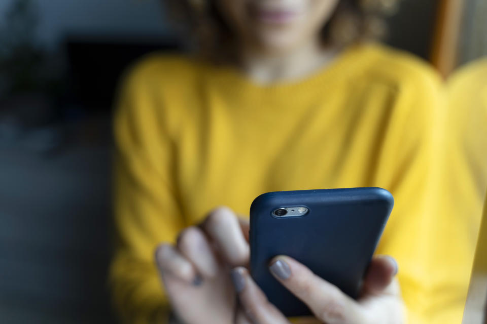
[[[229,208],[213,210],[200,226],[184,229],[176,245],[161,244],[156,263],[173,314],[185,324],[234,321],[232,267],[247,266],[249,224]]]

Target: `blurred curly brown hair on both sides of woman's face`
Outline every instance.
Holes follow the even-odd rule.
[[[322,27],[325,45],[345,46],[359,39],[386,36],[384,17],[394,14],[400,0],[340,0]],[[169,20],[184,33],[188,45],[201,56],[221,60],[232,55],[233,31],[215,0],[162,0]]]

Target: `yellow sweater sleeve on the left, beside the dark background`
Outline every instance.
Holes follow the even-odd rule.
[[[172,179],[173,146],[152,81],[150,67],[132,71],[114,119],[117,249],[110,284],[118,313],[132,323],[167,320],[154,250],[162,241],[175,241],[184,227]]]

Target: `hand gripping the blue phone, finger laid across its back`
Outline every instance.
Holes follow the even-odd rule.
[[[319,322],[327,324],[403,323],[403,302],[395,278],[397,264],[387,256],[374,257],[364,278],[359,300],[312,273],[296,260],[275,257],[269,266],[274,277],[302,300]],[[237,324],[289,324],[252,280],[246,268],[237,267],[232,279],[240,299]],[[306,321],[308,322],[308,321]]]

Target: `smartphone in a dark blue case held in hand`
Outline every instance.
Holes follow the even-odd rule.
[[[362,278],[392,211],[386,189],[346,188],[264,193],[250,208],[251,274],[286,316],[311,315],[269,271],[287,255],[357,298]]]

